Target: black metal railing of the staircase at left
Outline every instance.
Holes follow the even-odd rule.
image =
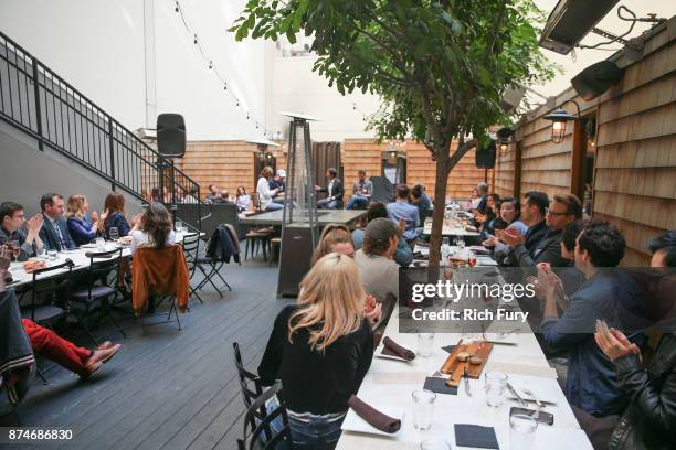
[[[144,201],[201,205],[200,186],[0,32],[0,119]],[[198,228],[200,206],[178,218]],[[186,214],[186,213],[183,213]],[[192,217],[192,215],[196,215]]]

